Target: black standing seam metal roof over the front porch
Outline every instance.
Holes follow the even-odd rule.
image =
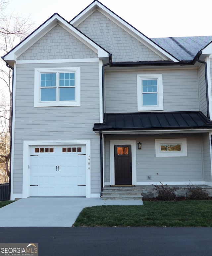
[[[212,121],[207,120],[200,111],[194,112],[151,112],[151,113],[108,113],[104,123],[95,123],[93,131],[106,130],[152,130],[209,128]]]

